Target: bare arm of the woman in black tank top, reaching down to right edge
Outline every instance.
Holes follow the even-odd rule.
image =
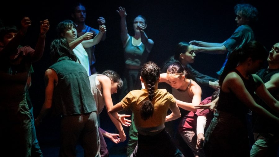
[[[271,120],[276,121],[279,123],[279,118],[268,112],[266,109],[264,109],[262,106],[258,105],[253,97],[250,95],[250,93],[245,88],[245,85],[240,78],[239,75],[232,72],[226,76],[224,79],[222,90],[231,90],[238,99],[240,99],[246,106],[248,106],[253,112],[256,112],[257,114],[264,116],[266,118],[269,118]],[[258,87],[259,88],[259,87]],[[259,89],[257,89],[258,91]]]

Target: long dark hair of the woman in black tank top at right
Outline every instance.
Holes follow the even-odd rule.
[[[219,84],[222,86],[222,83],[229,72],[235,69],[239,63],[243,63],[247,60],[247,58],[251,58],[253,61],[255,60],[263,60],[265,61],[268,56],[266,48],[263,44],[257,41],[250,41],[244,44],[241,48],[232,52],[232,54],[228,57],[227,64],[224,67],[224,71],[222,72]]]

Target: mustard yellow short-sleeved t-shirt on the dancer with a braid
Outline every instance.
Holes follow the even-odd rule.
[[[154,91],[154,112],[147,120],[140,117],[140,108],[148,100],[146,89],[133,90],[129,92],[121,101],[124,110],[131,109],[134,113],[135,125],[141,128],[157,127],[165,123],[167,111],[171,105],[175,105],[175,98],[166,91],[166,89],[157,89]]]

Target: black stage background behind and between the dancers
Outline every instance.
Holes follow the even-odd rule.
[[[271,1],[83,1],[86,6],[86,24],[98,28],[97,19],[103,16],[106,20],[106,40],[96,45],[96,69],[99,72],[110,69],[123,73],[124,58],[120,40],[120,16],[116,12],[119,6],[127,12],[128,33],[133,35],[132,22],[137,15],[147,19],[146,34],[153,39],[154,47],[148,60],[162,65],[173,55],[177,43],[181,41],[201,40],[205,42],[222,43],[229,38],[237,28],[233,7],[240,2],[254,5],[259,11],[259,20],[252,27],[256,40],[263,43],[268,50],[279,42],[278,4]],[[39,21],[48,19],[50,29],[47,32],[45,52],[42,59],[33,63],[32,86],[29,89],[36,118],[44,101],[44,72],[51,65],[49,45],[56,36],[56,25],[65,19],[71,19],[70,7],[73,1],[36,1],[36,2],[5,2],[1,4],[1,19],[5,24],[19,26],[24,16],[30,17],[32,26],[21,45],[35,48]],[[217,77],[215,72],[223,64],[225,55],[209,55],[199,53],[193,68],[203,74]],[[113,96],[116,102],[117,95]],[[102,114],[106,114],[104,111]],[[107,116],[104,116],[107,117]],[[101,119],[101,121],[104,121]],[[55,118],[46,117],[44,123],[37,129],[39,140],[44,134],[57,133],[58,122]],[[114,129],[110,120],[101,122],[103,128]],[[113,130],[114,131],[114,130]],[[112,132],[113,132],[112,131]],[[53,133],[52,139],[57,139]]]

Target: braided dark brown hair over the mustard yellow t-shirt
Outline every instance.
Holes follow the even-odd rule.
[[[144,102],[140,109],[140,117],[147,120],[154,112],[152,100],[154,97],[155,83],[160,77],[160,68],[154,62],[149,61],[142,66],[140,75],[146,82],[148,91],[148,100]]]

